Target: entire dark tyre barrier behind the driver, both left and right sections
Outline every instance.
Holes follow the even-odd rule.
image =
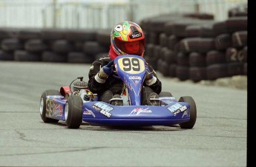
[[[168,13],[142,19],[145,60],[180,81],[247,75],[247,6],[225,21],[208,13]],[[0,28],[0,61],[91,64],[107,55],[111,30]]]

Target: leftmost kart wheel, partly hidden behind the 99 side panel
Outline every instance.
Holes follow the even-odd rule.
[[[50,117],[46,117],[46,96],[47,95],[61,95],[61,94],[57,90],[48,89],[42,93],[41,99],[40,99],[40,115],[41,115],[42,120],[45,123],[57,123],[59,120],[52,119]]]

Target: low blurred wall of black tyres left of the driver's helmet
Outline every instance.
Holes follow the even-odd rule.
[[[0,61],[91,64],[108,54],[110,30],[1,28],[0,42]]]

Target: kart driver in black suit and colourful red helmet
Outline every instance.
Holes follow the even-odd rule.
[[[98,95],[100,101],[122,106],[121,95],[124,84],[120,79],[111,75],[114,71],[113,67],[106,67],[106,65],[117,56],[140,55],[143,57],[144,52],[145,35],[142,28],[132,21],[123,21],[116,24],[111,30],[111,46],[108,55],[97,58],[91,64],[88,74],[88,88]],[[157,78],[153,67],[146,62],[146,76],[141,96],[142,105],[160,105],[159,100],[150,100],[150,98],[159,98],[158,94],[161,90],[161,81]],[[111,100],[112,98],[114,99]]]

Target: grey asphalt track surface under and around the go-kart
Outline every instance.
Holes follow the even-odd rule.
[[[163,78],[163,91],[190,95],[193,129],[118,129],[43,123],[46,89],[88,80],[88,64],[0,61],[0,166],[246,166],[247,91]]]

